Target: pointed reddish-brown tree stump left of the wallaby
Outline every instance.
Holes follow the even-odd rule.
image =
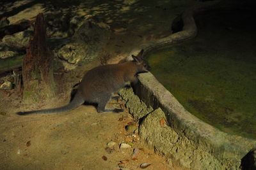
[[[36,16],[34,37],[30,39],[22,63],[23,99],[40,101],[55,96],[52,71],[53,53],[47,47],[42,13]]]

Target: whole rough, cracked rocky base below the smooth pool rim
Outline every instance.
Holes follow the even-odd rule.
[[[191,169],[239,169],[241,160],[218,159],[208,149],[202,148],[200,140],[193,141],[184,134],[180,135],[170,126],[168,117],[161,108],[154,110],[134,95],[132,89],[122,89],[118,92],[125,100],[125,106],[139,122],[140,138],[152,146],[154,150],[168,159],[168,164],[179,163]],[[150,98],[152,99],[152,98]],[[166,124],[161,125],[160,120]]]

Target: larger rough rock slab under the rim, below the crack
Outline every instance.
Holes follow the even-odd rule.
[[[198,148],[197,143],[190,141],[186,136],[180,136],[172,127],[160,124],[163,118],[166,120],[161,108],[152,111],[142,118],[139,134],[141,139],[154,146],[157,152],[163,153],[169,164],[171,162],[172,165],[174,161],[191,169],[238,169],[239,161],[216,159],[210,152]]]

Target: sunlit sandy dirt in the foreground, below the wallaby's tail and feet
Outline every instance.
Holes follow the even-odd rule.
[[[1,99],[6,98],[3,92],[0,95]],[[10,103],[11,98],[15,94],[8,97]],[[118,103],[111,101],[110,105]],[[138,134],[125,131],[125,125],[132,122],[128,110],[119,114],[97,113],[93,106],[80,106],[57,115],[13,114],[20,109],[10,106],[6,115],[1,112],[1,169],[120,169],[119,166],[140,169],[145,162],[152,163],[147,169],[177,169],[175,164],[170,166],[161,155],[148,149]],[[112,153],[106,150],[110,141],[116,143]],[[121,143],[133,145],[120,149]],[[134,148],[140,148],[140,152],[132,160]]]

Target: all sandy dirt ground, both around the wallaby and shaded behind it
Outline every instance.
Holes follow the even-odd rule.
[[[175,18],[172,14],[177,15],[184,9],[182,3],[166,6],[163,2],[152,1],[150,4],[141,1],[147,5],[137,4],[136,8],[129,11],[136,1],[124,1],[124,4],[115,1],[115,5],[95,2],[86,1],[90,10],[84,8],[83,4],[76,10],[77,13],[97,13],[102,18],[106,17],[104,20],[114,31],[107,48],[113,52],[112,55],[116,55],[115,59],[109,59],[109,63],[123,59],[122,53],[129,52],[138,43],[170,34],[170,24]],[[14,4],[18,6],[17,10],[13,10]],[[6,4],[3,9],[9,9],[6,10],[6,17],[14,23],[21,18],[31,19],[44,12],[46,4],[17,1],[13,6]],[[119,12],[106,8],[118,8]],[[115,15],[111,12],[115,12]],[[69,84],[73,85],[79,80],[70,79]],[[163,156],[154,153],[154,149],[141,141],[138,134],[125,131],[125,126],[134,121],[127,109],[118,114],[97,113],[94,106],[83,105],[76,110],[56,115],[15,115],[17,111],[63,106],[69,98],[70,92],[63,92],[52,101],[25,104],[17,91],[0,90],[0,169],[141,169],[140,165],[145,162],[152,163],[147,167],[148,170],[183,169],[172,160],[166,162]],[[109,107],[121,105],[125,105],[122,100],[109,103]],[[113,148],[107,148],[110,141],[116,143]],[[120,149],[121,143],[132,146]],[[134,148],[140,148],[140,152],[132,160]]]

